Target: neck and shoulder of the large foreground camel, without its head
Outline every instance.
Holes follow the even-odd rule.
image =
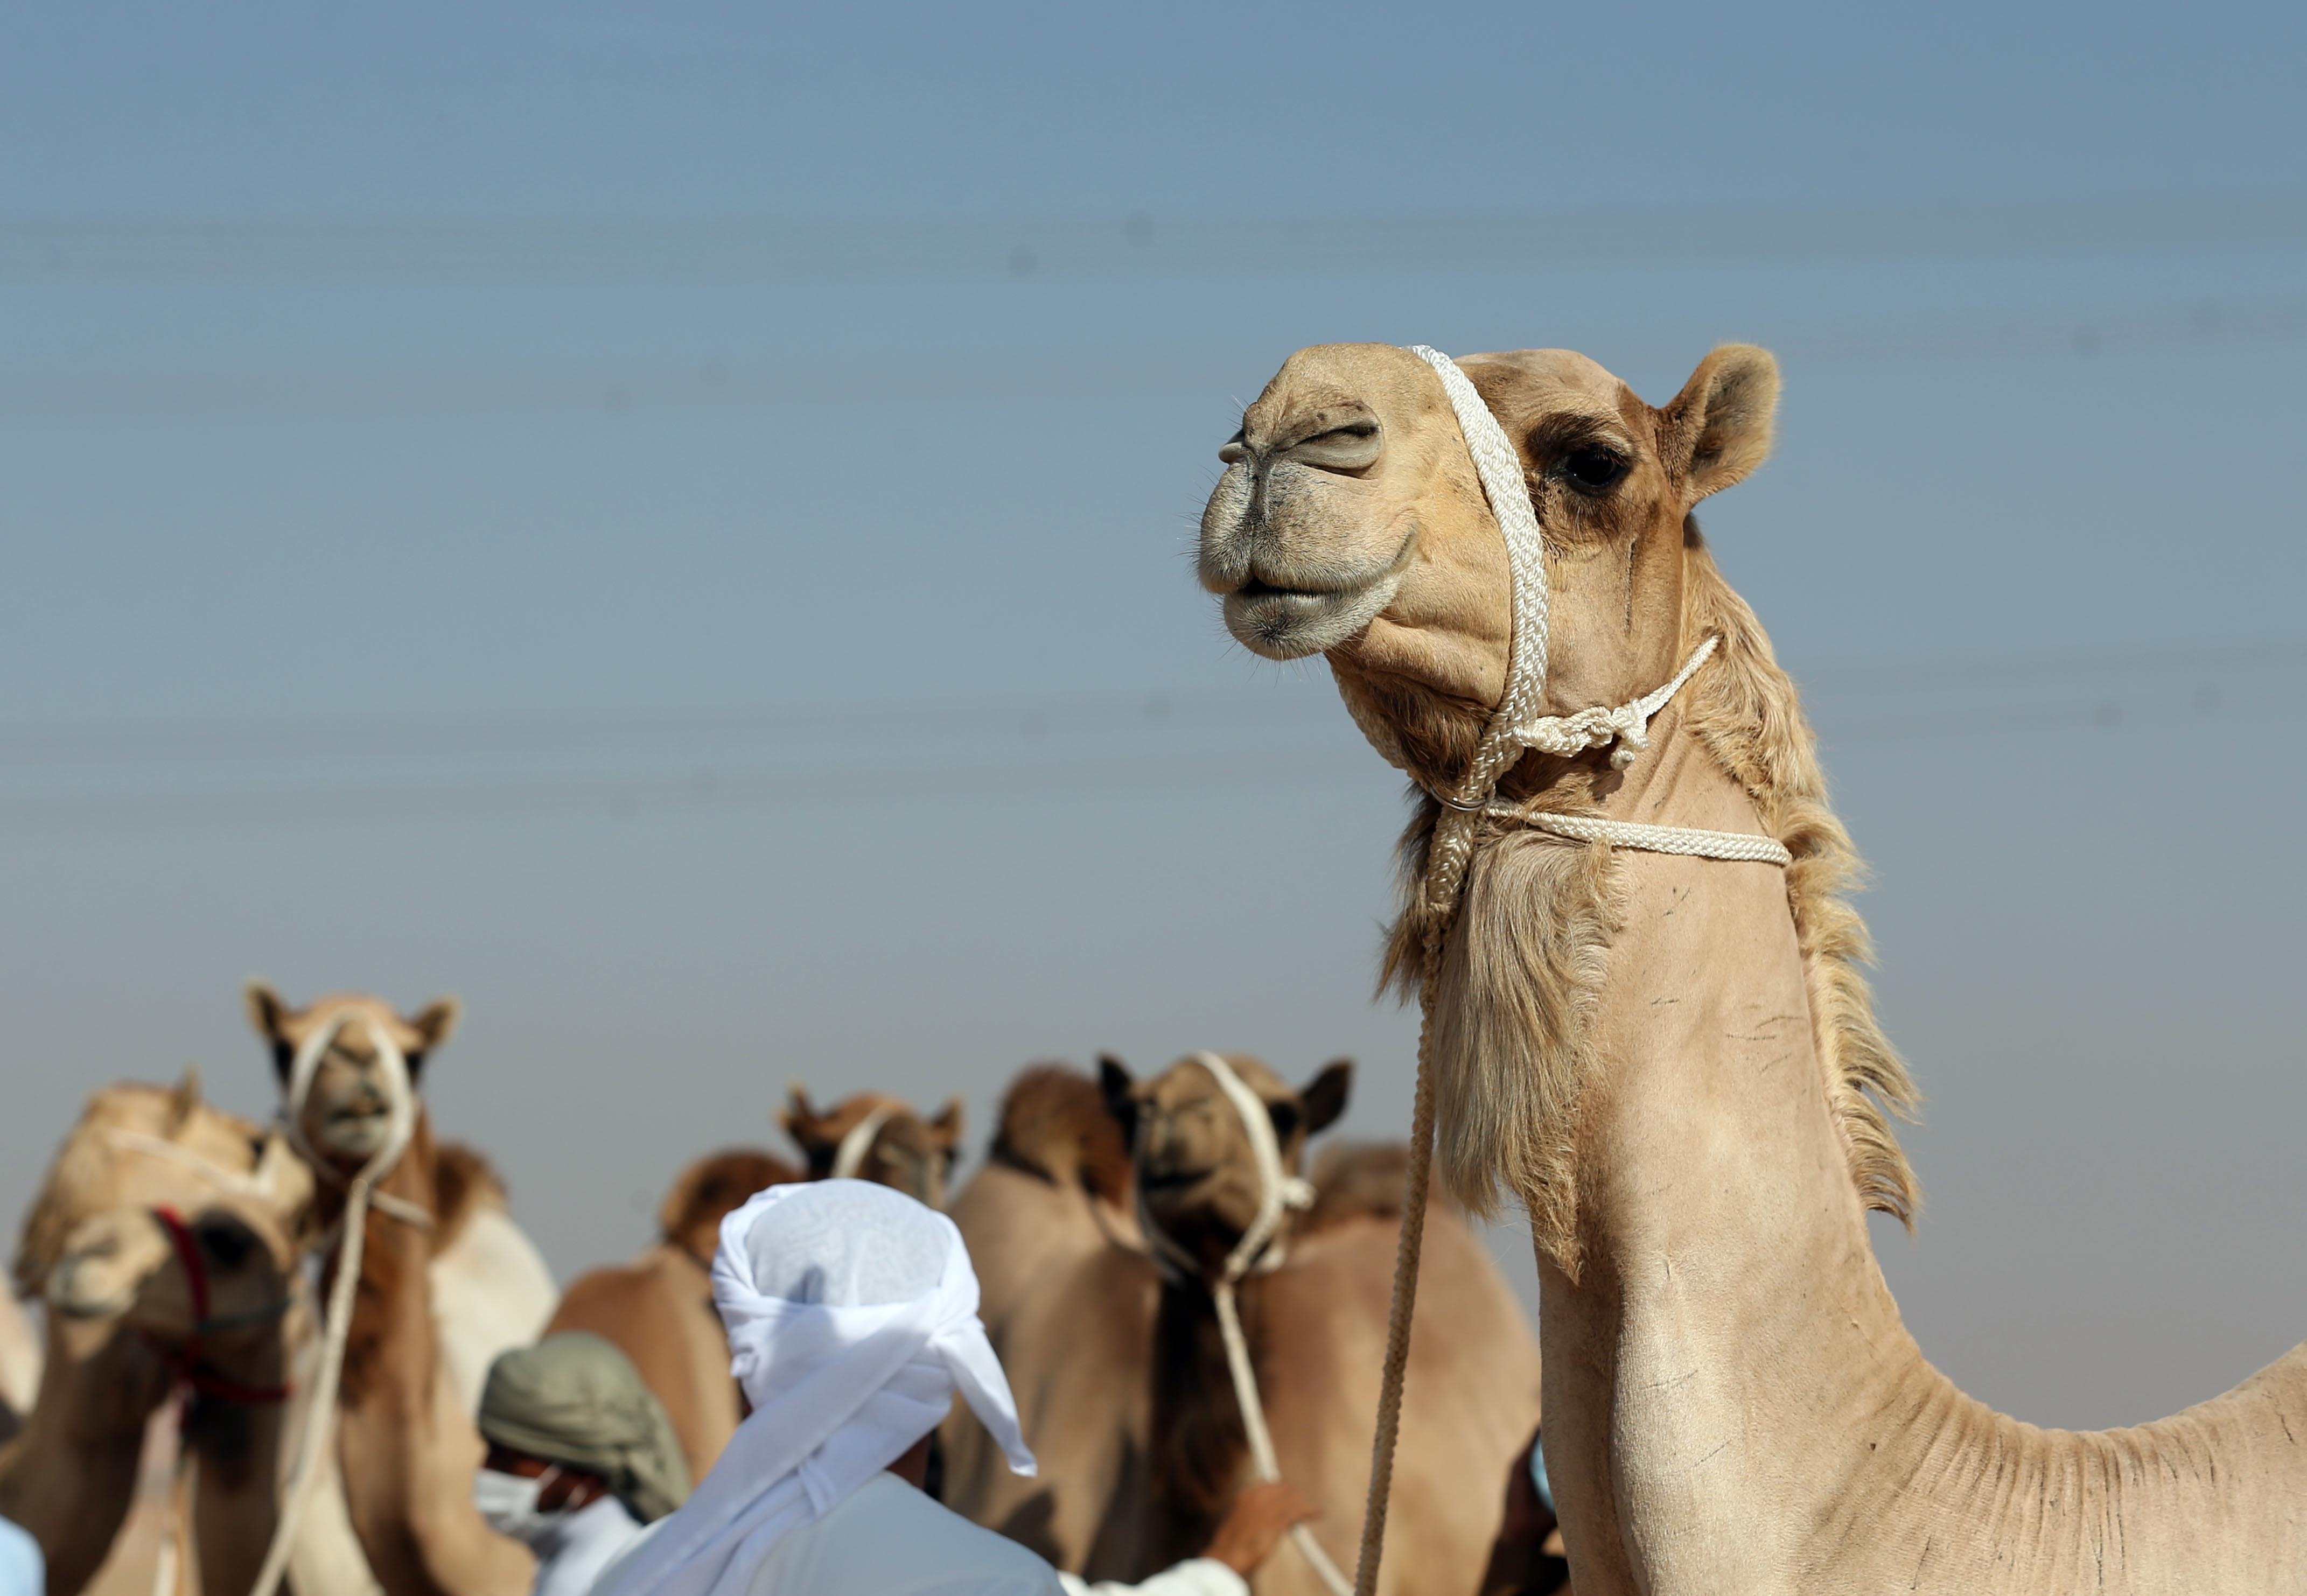
[[[1869,1093],[1913,1091],[1853,969],[1855,858],[1760,630],[1691,565],[1689,632],[1723,660],[1622,786],[1532,791],[1760,826],[1793,869],[1500,833],[1435,1015],[1453,1181],[1488,1197],[1497,1160],[1532,1204],[1580,1596],[2302,1587],[2307,1347],[2173,1418],[2069,1435],[1966,1398],[1906,1333],[1866,1209],[1903,1215],[1913,1179]]]

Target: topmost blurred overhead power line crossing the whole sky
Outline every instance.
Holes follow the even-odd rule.
[[[1691,214],[780,219],[16,219],[0,281],[1227,277],[1735,265],[2307,242],[2307,198]]]

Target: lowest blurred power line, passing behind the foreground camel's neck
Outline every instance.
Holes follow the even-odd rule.
[[[2291,722],[2307,715],[2302,671],[2307,643],[2284,641],[1869,664],[1806,673],[1806,701],[1832,759],[1864,743]],[[1387,780],[1313,683],[1260,699],[18,724],[0,727],[0,835],[1070,803],[1361,777]]]

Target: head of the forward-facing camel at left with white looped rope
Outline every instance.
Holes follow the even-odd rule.
[[[335,1026],[328,1052],[311,1077],[300,1130],[339,1174],[355,1174],[385,1144],[392,1105],[381,1042],[392,1042],[408,1066],[415,1086],[427,1056],[457,1031],[457,999],[436,999],[415,1015],[401,1017],[383,999],[332,994],[305,1008],[288,1008],[279,992],[261,980],[247,987],[249,1024],[272,1047],[272,1070],[281,1089],[298,1049],[316,1033]]]

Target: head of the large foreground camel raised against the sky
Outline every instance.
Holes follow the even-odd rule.
[[[1663,408],[1560,348],[1458,367],[1520,454],[1546,544],[1543,713],[1668,680],[1696,646],[1691,507],[1769,454],[1776,362],[1716,348]],[[1513,584],[1442,378],[1391,344],[1303,348],[1218,459],[1200,579],[1227,630],[1269,660],[1329,655],[1357,720],[1428,786],[1456,782],[1504,694]]]

